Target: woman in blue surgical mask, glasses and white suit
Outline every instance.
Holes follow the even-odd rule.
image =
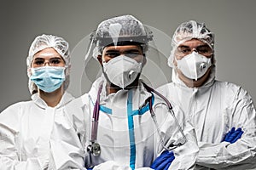
[[[62,37],[36,37],[26,61],[32,100],[10,105],[0,114],[1,170],[47,169],[55,116],[73,99],[65,92],[70,55]]]

